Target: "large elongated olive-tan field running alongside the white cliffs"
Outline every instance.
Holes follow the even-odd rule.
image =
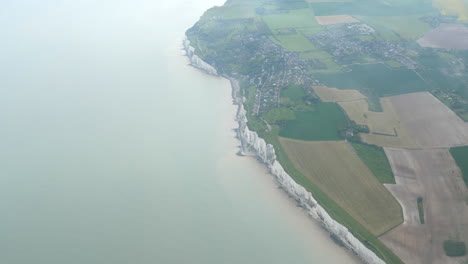
[[[398,202],[344,141],[280,138],[294,166],[374,235],[402,223]]]

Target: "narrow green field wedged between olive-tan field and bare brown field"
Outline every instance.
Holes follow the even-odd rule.
[[[395,176],[383,148],[354,142],[351,145],[381,183],[395,184]]]

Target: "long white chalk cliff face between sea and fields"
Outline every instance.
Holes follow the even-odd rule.
[[[194,53],[194,48],[190,46],[190,41],[188,39],[183,41],[183,48],[190,59],[190,64],[193,67],[198,68],[205,73],[219,76],[213,66],[204,62]],[[308,192],[303,186],[296,183],[293,178],[286,173],[281,164],[276,160],[273,145],[267,144],[256,132],[249,130],[243,99],[237,97],[237,91],[239,90],[237,80],[230,78],[229,76],[221,77],[230,81],[233,104],[237,105],[236,122],[238,124],[237,138],[241,142],[240,154],[256,157],[264,163],[270,174],[275,177],[280,187],[288,195],[293,197],[310,216],[317,219],[321,223],[321,226],[329,232],[334,239],[339,240],[344,247],[353,251],[364,261],[364,263],[384,264],[385,262],[383,260],[364,246],[356,237],[354,237],[353,234],[349,232],[346,227],[332,219],[320,204],[318,204],[310,192]]]

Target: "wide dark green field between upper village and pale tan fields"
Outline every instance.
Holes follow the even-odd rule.
[[[426,82],[412,70],[391,69],[382,63],[353,65],[350,69],[349,72],[321,73],[316,76],[328,87],[355,89],[371,99],[429,89]]]

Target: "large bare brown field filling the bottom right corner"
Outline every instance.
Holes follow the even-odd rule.
[[[385,148],[385,152],[396,179],[395,185],[386,187],[402,205],[405,221],[381,240],[405,263],[467,261],[468,257],[447,257],[443,249],[445,240],[468,242],[468,189],[449,151]],[[419,197],[424,201],[424,224]]]

